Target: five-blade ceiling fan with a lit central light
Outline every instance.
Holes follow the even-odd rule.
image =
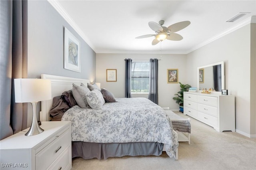
[[[172,24],[168,27],[162,26],[164,24],[164,20],[160,20],[157,24],[156,22],[148,22],[148,26],[156,33],[156,34],[147,34],[143,36],[136,37],[139,38],[148,38],[154,36],[155,39],[152,41],[152,45],[156,45],[163,40],[172,40],[172,41],[180,41],[183,37],[180,34],[174,33],[186,28],[190,21],[182,21],[177,22],[176,24]]]

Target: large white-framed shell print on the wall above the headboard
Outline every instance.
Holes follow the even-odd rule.
[[[64,28],[64,69],[80,72],[80,42]]]

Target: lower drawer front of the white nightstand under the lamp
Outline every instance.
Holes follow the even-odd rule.
[[[49,168],[50,170],[65,170],[71,164],[70,147],[66,148],[63,154],[56,162]]]

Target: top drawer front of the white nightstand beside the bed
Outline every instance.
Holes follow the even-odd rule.
[[[70,134],[67,129],[54,135],[36,154],[36,170],[46,170],[69,145]]]

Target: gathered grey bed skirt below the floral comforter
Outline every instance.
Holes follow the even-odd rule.
[[[90,143],[72,142],[72,158],[107,159],[121,156],[146,156],[162,154],[164,144],[157,142]]]

